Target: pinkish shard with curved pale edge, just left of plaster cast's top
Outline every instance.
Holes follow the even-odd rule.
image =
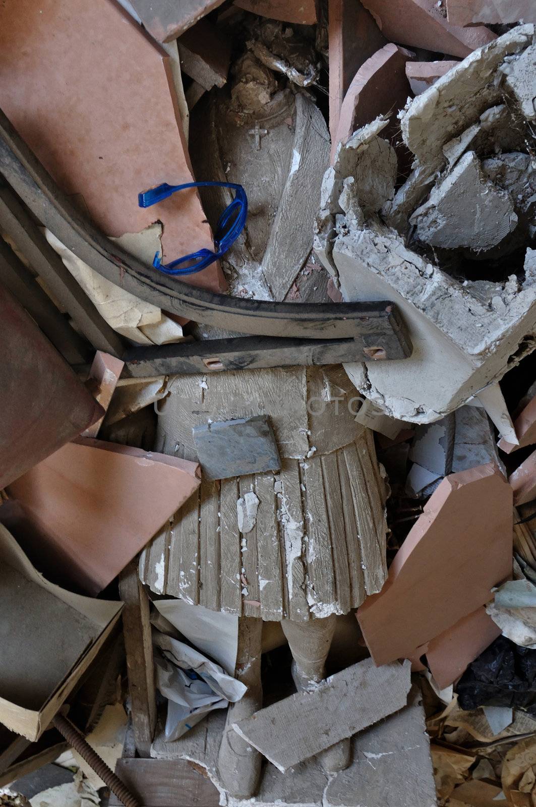
[[[346,143],[358,128],[379,115],[391,114],[394,123],[394,131],[390,126],[382,133],[385,139],[396,136],[400,130],[396,115],[411,95],[405,67],[412,56],[404,48],[387,44],[358,69],[342,102],[337,132],[332,138],[332,162],[338,144]]]

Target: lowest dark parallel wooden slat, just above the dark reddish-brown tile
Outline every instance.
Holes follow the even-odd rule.
[[[0,281],[9,289],[44,335],[69,364],[85,364],[93,353],[90,344],[69,325],[23,261],[0,237]]]

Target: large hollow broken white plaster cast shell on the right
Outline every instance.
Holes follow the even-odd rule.
[[[443,147],[475,123],[486,131],[484,123],[502,121],[500,107],[490,120],[483,120],[484,113],[505,98],[500,67],[508,57],[511,68],[532,43],[534,32],[534,25],[517,27],[471,53],[401,113],[404,141],[419,158],[405,199],[393,199],[394,186],[386,181],[391,152],[385,141],[379,143],[381,121],[362,128],[346,148],[340,147],[336,165],[325,174],[315,240],[318,257],[338,278],[345,299],[396,303],[412,339],[412,356],[404,362],[345,365],[362,395],[397,419],[429,423],[453,412],[499,381],[536,344],[530,252],[522,284],[515,275],[502,283],[461,283],[409,249],[404,238],[375,215],[380,208],[384,213],[391,206],[391,214],[404,208],[407,221],[422,203],[433,174],[446,165]],[[512,114],[522,119],[520,111]],[[350,144],[358,144],[354,153]],[[471,156],[459,158],[471,162]],[[487,165],[487,170],[492,167]],[[371,182],[362,185],[361,176],[376,179],[375,194],[368,199]],[[496,193],[503,187],[508,191],[507,185],[499,182]],[[359,190],[352,193],[354,186]],[[378,199],[381,193],[383,200]],[[399,215],[399,222],[403,220]]]

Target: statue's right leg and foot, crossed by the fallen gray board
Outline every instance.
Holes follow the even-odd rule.
[[[335,619],[332,615],[307,622],[281,622],[294,659],[292,677],[299,691],[312,689],[325,678],[325,660],[335,631]],[[344,770],[350,764],[350,738],[336,742],[317,757],[329,773]]]

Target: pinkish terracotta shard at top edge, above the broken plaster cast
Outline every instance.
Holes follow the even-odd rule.
[[[486,27],[450,25],[437,0],[363,0],[388,40],[461,59],[496,39]]]

